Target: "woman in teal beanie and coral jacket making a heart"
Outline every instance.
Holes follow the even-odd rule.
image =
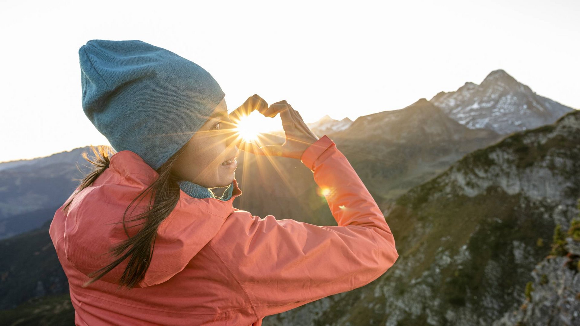
[[[79,59],[83,110],[116,151],[85,156],[93,171],[50,224],[77,325],[261,325],[362,287],[396,261],[346,157],[285,101],[254,95],[228,115],[207,71],[142,41],[91,40]],[[242,146],[231,127],[253,110],[280,114],[282,146]],[[330,190],[338,226],[233,208],[238,147],[300,159]],[[215,187],[227,188],[218,198]]]

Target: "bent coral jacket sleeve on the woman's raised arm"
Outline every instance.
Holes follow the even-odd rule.
[[[219,255],[260,318],[362,287],[398,257],[385,217],[328,136],[307,148],[301,161],[314,173],[338,226],[237,211],[222,237],[230,245]]]

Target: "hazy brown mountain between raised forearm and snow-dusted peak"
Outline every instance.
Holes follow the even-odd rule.
[[[501,139],[493,131],[466,128],[426,99],[358,117],[332,136],[367,187],[387,200]]]

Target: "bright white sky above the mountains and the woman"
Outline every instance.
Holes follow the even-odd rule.
[[[580,108],[578,17],[575,0],[0,0],[0,162],[109,144],[81,106],[78,49],[90,39],[139,39],[194,61],[229,111],[258,94],[305,122],[354,121],[496,69]]]

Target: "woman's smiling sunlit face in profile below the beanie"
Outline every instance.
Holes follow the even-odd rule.
[[[171,171],[180,180],[189,180],[206,188],[225,187],[235,179],[238,163],[224,165],[224,161],[237,157],[238,136],[233,132],[233,122],[227,114],[226,101],[222,100],[211,118],[185,144]]]

